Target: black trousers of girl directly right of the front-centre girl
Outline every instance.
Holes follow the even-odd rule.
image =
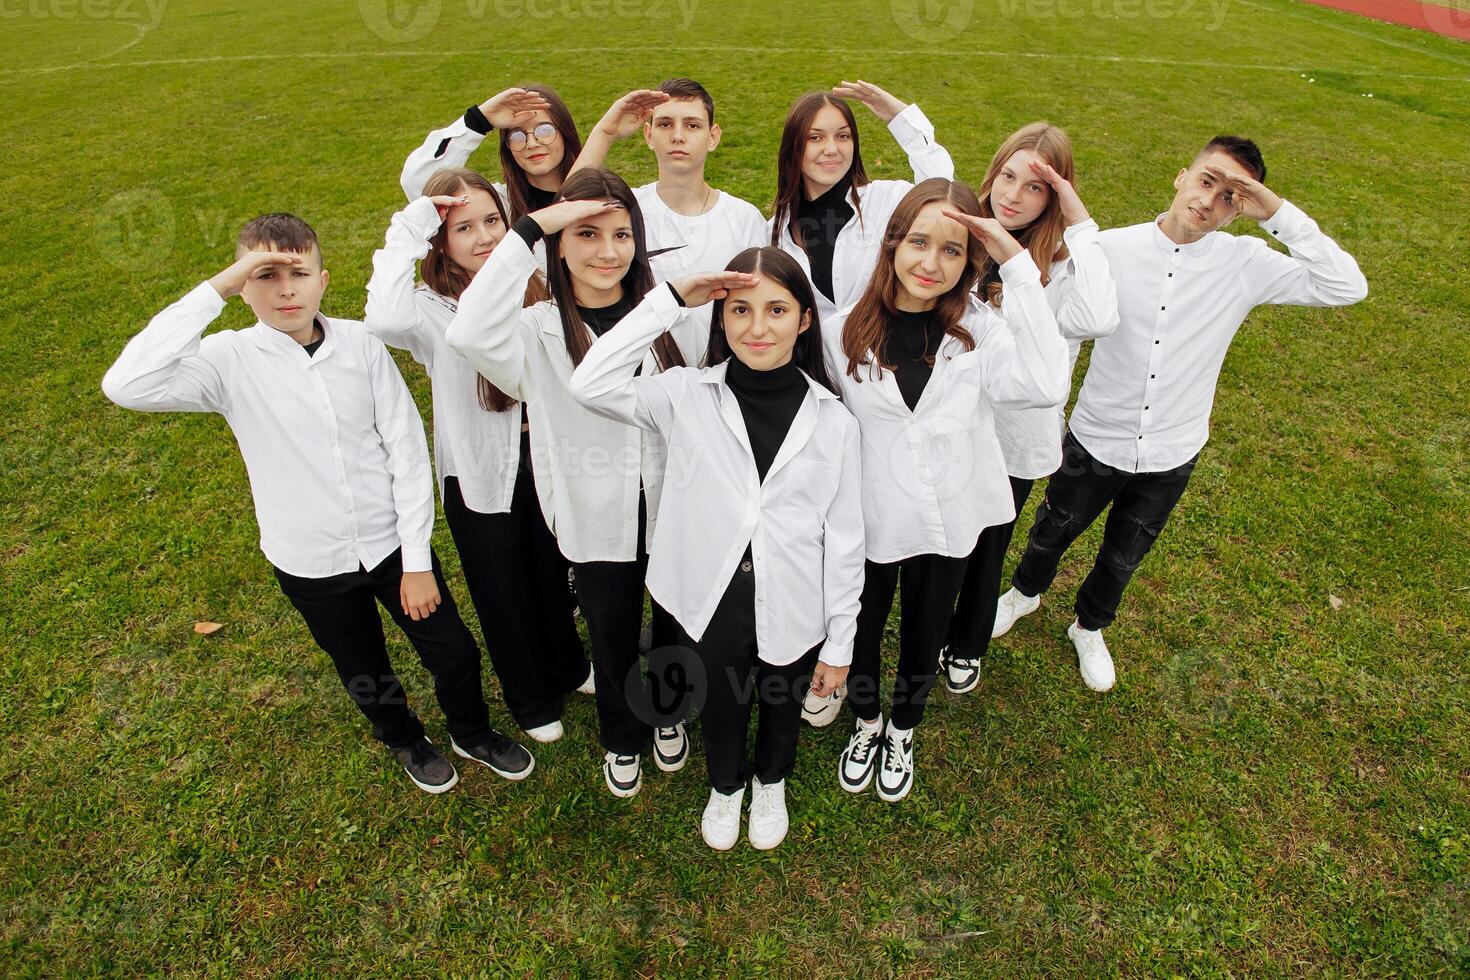
[[[853,669],[847,679],[847,702],[853,714],[872,721],[882,710],[878,704],[878,674],[882,667],[881,645],[894,591],[903,579],[898,607],[898,673],[894,677],[894,727],[911,729],[923,721],[923,707],[939,669],[954,614],[954,598],[964,582],[966,558],[916,555],[879,564],[869,561],[863,579],[861,608],[857,613],[857,639],[853,644]]]

